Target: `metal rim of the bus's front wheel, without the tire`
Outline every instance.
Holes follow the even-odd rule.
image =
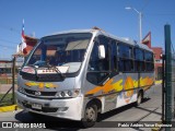
[[[96,114],[93,107],[89,107],[85,112],[85,117],[88,121],[95,121]]]

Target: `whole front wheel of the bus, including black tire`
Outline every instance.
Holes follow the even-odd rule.
[[[81,120],[84,128],[93,127],[97,119],[97,106],[90,104],[85,107],[84,118]]]

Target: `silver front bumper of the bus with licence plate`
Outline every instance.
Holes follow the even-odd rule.
[[[42,99],[28,97],[19,91],[15,94],[18,106],[27,111],[71,120],[81,120],[82,118],[82,97]]]

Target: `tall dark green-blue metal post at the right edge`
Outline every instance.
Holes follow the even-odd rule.
[[[171,26],[164,26],[165,55],[163,55],[163,83],[162,83],[162,122],[171,124],[175,118],[175,51],[171,41]],[[165,131],[171,131],[166,127]]]

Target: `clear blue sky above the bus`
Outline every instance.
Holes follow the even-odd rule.
[[[139,40],[139,15],[142,37],[151,32],[152,46],[164,48],[164,25],[171,25],[175,39],[175,0],[0,0],[0,59],[12,58],[21,43],[22,22],[25,35],[45,35],[98,26],[118,37]]]

